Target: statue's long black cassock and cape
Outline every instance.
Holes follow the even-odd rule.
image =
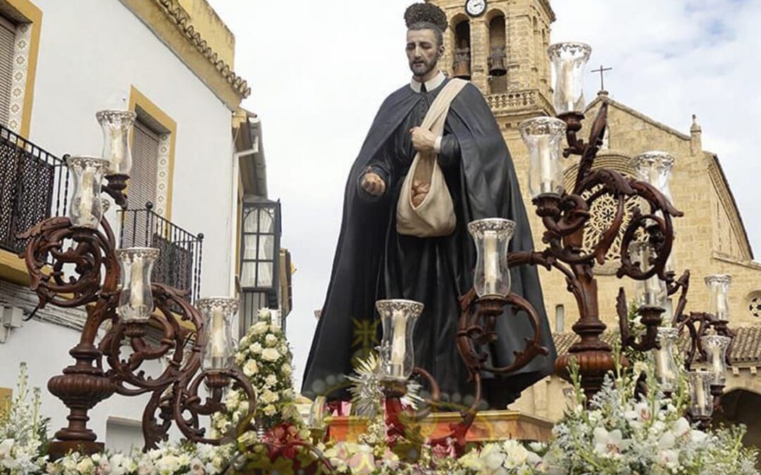
[[[352,374],[354,359],[366,356],[380,341],[374,309],[379,299],[425,304],[413,336],[416,366],[431,372],[452,402],[468,403],[472,397],[473,386],[454,344],[459,298],[473,287],[476,261],[467,223],[508,218],[517,223],[511,250],[533,249],[533,242],[510,153],[492,111],[473,84],[466,84],[451,103],[439,154],[457,213],[456,230],[439,238],[396,233],[396,201],[415,157],[409,129],[420,125],[441,89],[419,93],[407,85],[391,94],[380,106],[352,166],[333,274],[304,372],[302,393],[307,397],[349,399],[342,376]],[[380,198],[361,188],[368,167],[387,183]],[[536,269],[513,268],[511,277],[512,292],[537,309],[543,345],[550,351],[517,374],[485,375],[486,402],[495,409],[504,409],[524,388],[549,375],[556,357]],[[489,353],[492,364],[507,366],[533,331],[523,315],[503,315],[497,329],[499,339]]]

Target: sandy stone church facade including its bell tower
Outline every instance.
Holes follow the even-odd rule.
[[[447,52],[442,64],[448,74],[469,77],[494,112],[511,150],[531,216],[534,243],[540,249],[543,226],[528,195],[528,152],[517,126],[531,117],[555,115],[546,49],[556,16],[548,0],[431,2],[443,8],[449,20],[444,40]],[[486,8],[479,8],[479,4]],[[675,157],[671,192],[675,207],[684,212],[684,217],[675,220],[673,255],[677,274],[689,269],[692,275],[686,312],[708,308],[708,292],[703,283],[706,275],[732,276],[731,328],[737,332],[737,338],[732,351],[732,374],[724,396],[724,416],[749,424],[753,437],[753,421],[743,420],[740,414],[742,407],[761,399],[757,395],[761,394],[761,380],[756,378],[756,367],[761,366],[761,352],[757,349],[761,342],[761,264],[753,260],[740,212],[718,156],[702,149],[702,130],[694,117],[689,133],[684,133],[613,100],[605,91],[587,106],[581,138],[587,137],[588,127],[603,102],[609,105],[609,133],[595,166],[632,176],[629,162],[637,154],[664,150]],[[686,112],[686,123],[688,117]],[[566,162],[566,188],[572,186],[577,167],[578,158]],[[585,230],[585,242],[590,245],[599,239],[609,216],[605,200],[597,201],[592,211],[593,219]],[[615,258],[616,245],[610,252],[609,257]],[[614,266],[615,259],[610,265],[596,269],[600,315],[609,328],[605,335],[609,340],[615,337],[610,331],[618,325],[615,302],[619,287],[624,287],[629,299],[634,296],[634,283],[617,279]],[[540,278],[547,315],[561,354],[576,339],[571,326],[578,319],[578,309],[560,274],[540,269]],[[556,376],[546,378],[524,391],[511,409],[558,420],[565,408],[562,390],[567,387]]]

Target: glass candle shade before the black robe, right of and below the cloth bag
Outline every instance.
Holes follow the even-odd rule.
[[[510,293],[508,247],[515,231],[515,222],[501,218],[475,220],[468,223],[468,232],[476,243],[476,268],[473,288],[479,297]]]

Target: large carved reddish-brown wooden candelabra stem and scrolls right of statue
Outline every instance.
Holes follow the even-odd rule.
[[[568,378],[570,359],[576,359],[582,379],[582,386],[591,397],[599,391],[604,376],[614,367],[612,348],[600,340],[600,334],[606,325],[600,320],[597,302],[597,281],[593,268],[604,264],[616,237],[621,240],[621,266],[618,277],[630,277],[645,280],[658,274],[666,280],[665,266],[673,243],[672,217],[680,217],[668,199],[653,185],[637,179],[628,179],[613,169],[594,169],[597,150],[602,144],[607,128],[607,103],[602,103],[597,117],[591,125],[589,141],[576,137],[581,130],[583,114],[567,113],[559,116],[566,124],[568,147],[565,157],[581,157],[578,174],[572,192],[543,194],[534,198],[537,214],[542,218],[546,228],[543,242],[548,245],[544,251],[545,265],[556,268],[565,276],[568,290],[574,295],[580,319],[573,330],[581,340],[572,345],[568,353],[556,361],[556,372]],[[603,197],[611,197],[615,205],[615,215],[603,230],[602,236],[591,249],[584,249],[584,232],[590,220],[590,210],[594,203]],[[626,223],[626,201],[637,199],[647,206],[646,213],[635,211]],[[640,266],[632,264],[629,259],[629,245],[632,242],[646,240],[653,245],[654,258]],[[588,243],[587,243],[588,244]],[[626,297],[619,296],[619,312]],[[643,310],[643,323],[648,330],[644,340],[638,342],[628,333],[626,344],[645,347],[654,339],[656,328],[661,323],[663,309]],[[627,322],[628,323],[628,322]],[[628,331],[628,325],[626,330]]]

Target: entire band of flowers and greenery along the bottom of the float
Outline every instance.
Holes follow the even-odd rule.
[[[664,397],[651,361],[638,364],[651,388],[646,397],[634,396],[638,372],[618,367],[589,404],[585,404],[578,367],[572,366],[574,397],[549,443],[524,445],[508,440],[473,445],[458,459],[451,442],[435,447],[388,444],[382,417],[372,421],[360,443],[326,442],[318,444],[317,450],[304,446],[308,431],[295,410],[291,352],[269,312],[263,312],[240,341],[236,358],[261,401],[254,411],[256,430],[244,432],[237,444],[212,447],[183,442],[163,444],[145,454],[74,453],[54,463],[48,463],[45,455],[46,420],[39,416],[39,391],[33,391],[29,404],[22,366],[18,395],[0,419],[0,474],[323,473],[323,464],[335,473],[361,475],[759,474],[756,451],[740,442],[743,429],[704,432],[690,426],[683,417],[686,385],[683,382],[673,397]],[[226,403],[227,412],[213,423],[217,431],[228,430],[248,410],[247,401],[236,391],[230,391]]]

